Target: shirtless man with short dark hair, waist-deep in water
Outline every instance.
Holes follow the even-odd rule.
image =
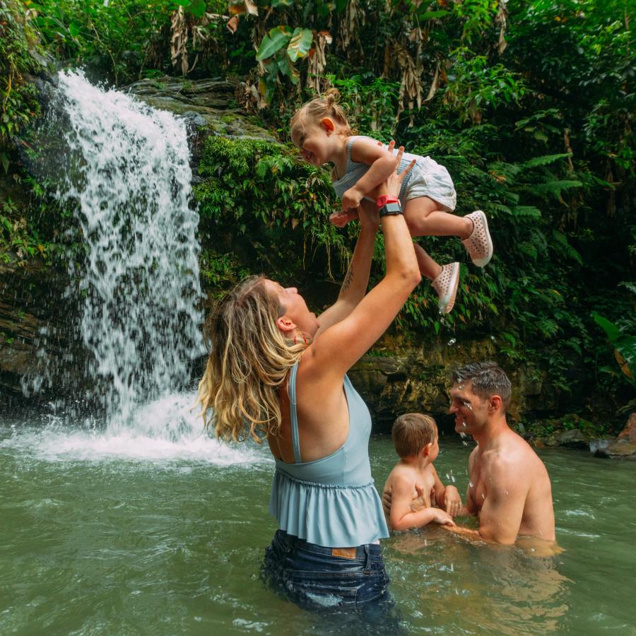
[[[510,379],[492,362],[461,367],[452,379],[455,430],[477,442],[469,459],[466,509],[478,515],[479,531],[449,530],[495,543],[514,543],[519,535],[555,541],[546,466],[506,421]]]

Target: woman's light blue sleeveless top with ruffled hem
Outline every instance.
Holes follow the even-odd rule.
[[[389,536],[382,502],[371,477],[371,416],[345,376],[349,432],[338,450],[314,461],[300,461],[296,413],[296,363],[290,372],[289,399],[295,464],[276,459],[269,512],[293,536],[327,548],[352,548]]]

